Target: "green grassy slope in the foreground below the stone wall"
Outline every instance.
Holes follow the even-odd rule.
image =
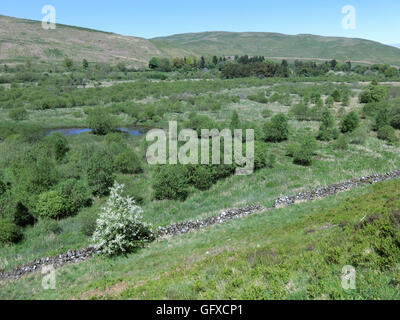
[[[2,284],[2,299],[399,299],[398,180],[160,240],[135,254],[96,257]],[[328,209],[331,208],[331,209]],[[376,220],[365,217],[377,215]],[[360,221],[369,221],[360,224]],[[388,220],[389,219],[389,220]],[[372,222],[371,222],[372,221]],[[391,222],[392,221],[392,222]],[[396,220],[397,221],[397,220]],[[340,225],[340,226],[337,226]],[[396,251],[397,250],[397,251]],[[342,268],[357,271],[341,287]]]

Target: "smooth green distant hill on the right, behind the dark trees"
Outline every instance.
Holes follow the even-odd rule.
[[[186,33],[151,39],[164,53],[176,48],[197,55],[263,55],[276,58],[352,60],[400,65],[400,50],[378,42],[301,34],[259,32]]]

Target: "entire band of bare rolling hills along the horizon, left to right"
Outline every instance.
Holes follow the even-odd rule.
[[[288,60],[351,60],[400,66],[400,49],[378,42],[315,35],[260,32],[186,33],[144,39],[57,24],[44,30],[40,21],[0,15],[0,62],[74,60],[145,66],[153,56],[263,55]]]

